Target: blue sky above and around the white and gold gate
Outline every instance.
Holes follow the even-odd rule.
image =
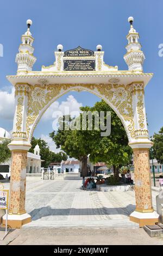
[[[16,74],[15,56],[21,35],[26,32],[27,19],[33,20],[30,30],[35,38],[34,55],[37,58],[33,70],[40,70],[41,65],[53,64],[58,44],[64,45],[64,50],[78,45],[96,50],[96,45],[101,44],[105,51],[104,62],[117,65],[119,70],[127,70],[123,55],[126,53],[126,35],[129,31],[127,19],[133,16],[134,28],[140,34],[146,56],[143,70],[154,73],[145,92],[148,128],[151,135],[158,132],[163,126],[163,57],[158,55],[158,46],[163,43],[162,8],[163,1],[160,0],[1,2],[0,44],[3,44],[4,56],[0,57],[0,90],[7,93],[0,92],[0,126],[9,131],[12,129],[13,100],[10,97],[11,85],[5,76]],[[72,92],[62,96],[59,104],[67,101],[68,95],[83,106],[93,105],[98,100],[95,95],[86,92]],[[7,107],[4,109],[4,106]],[[40,121],[35,136],[48,135],[52,130],[51,124],[52,120]]]

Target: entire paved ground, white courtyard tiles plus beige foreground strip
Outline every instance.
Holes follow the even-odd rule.
[[[0,245],[163,245],[163,239],[149,237],[129,221],[134,191],[83,191],[81,184],[28,178],[26,209],[33,221],[12,231]]]

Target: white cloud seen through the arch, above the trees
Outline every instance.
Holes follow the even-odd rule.
[[[59,103],[58,101],[55,101],[52,103],[51,106],[47,109],[47,111],[43,114],[42,116],[42,121],[47,121],[47,120],[52,120],[53,114],[55,112],[60,111],[62,114],[65,114],[65,110],[68,109],[69,113],[71,114],[72,112],[78,112],[80,113],[80,107],[82,107],[82,103],[79,103],[73,95],[69,95],[67,97],[67,101],[62,101]]]

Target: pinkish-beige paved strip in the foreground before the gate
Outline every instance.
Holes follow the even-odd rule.
[[[17,229],[1,245],[163,245],[142,228],[121,229]]]

